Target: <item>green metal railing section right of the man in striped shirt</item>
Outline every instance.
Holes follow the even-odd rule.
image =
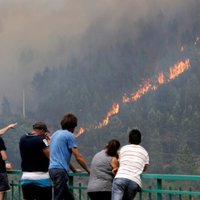
[[[139,199],[199,200],[200,176],[172,174],[142,174],[144,187]]]

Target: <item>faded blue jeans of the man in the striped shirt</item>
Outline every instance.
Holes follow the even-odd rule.
[[[133,200],[140,186],[126,178],[115,178],[112,185],[112,200]]]

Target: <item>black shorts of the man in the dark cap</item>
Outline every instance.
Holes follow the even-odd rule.
[[[25,200],[52,200],[52,187],[22,185],[22,192]]]

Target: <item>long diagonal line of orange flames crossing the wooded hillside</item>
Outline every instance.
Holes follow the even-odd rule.
[[[179,61],[177,62],[173,67],[170,67],[169,73],[165,76],[164,73],[159,73],[158,76],[154,81],[147,80],[144,82],[143,85],[140,86],[140,88],[132,93],[130,97],[125,94],[122,97],[122,103],[130,103],[133,101],[139,100],[144,94],[149,92],[150,90],[157,90],[159,85],[165,84],[167,82],[170,82],[171,80],[174,80],[178,76],[180,76],[183,72],[188,70],[190,68],[190,60],[186,59],[185,61]],[[99,129],[104,126],[107,126],[110,122],[110,118],[113,115],[116,115],[119,112],[119,103],[113,103],[111,110],[107,113],[106,117],[102,120],[102,122],[99,122],[97,126],[94,126],[94,129]],[[83,134],[85,131],[90,131],[91,128],[80,128],[77,134],[75,134],[76,137]]]

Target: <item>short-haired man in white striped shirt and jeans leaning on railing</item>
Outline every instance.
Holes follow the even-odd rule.
[[[129,144],[119,151],[119,168],[112,185],[112,200],[133,200],[142,188],[140,175],[147,170],[149,155],[140,143],[140,131],[131,130]]]

